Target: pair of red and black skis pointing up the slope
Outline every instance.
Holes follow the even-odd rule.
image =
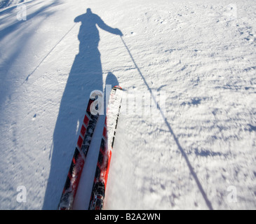
[[[93,190],[90,196],[89,210],[101,210],[104,206],[107,177],[109,174],[110,160],[112,158],[112,148],[116,135],[116,127],[119,120],[121,100],[122,88],[120,86],[113,87],[107,106],[107,115],[102,133]],[[91,109],[95,103],[95,99],[90,99],[88,102],[86,116],[83,119],[79,139],[76,144],[72,163],[67,174],[67,180],[58,205],[59,210],[72,209],[83,165],[86,162],[86,156],[90,148],[90,141],[93,138],[93,132],[99,117],[98,113],[91,113]]]

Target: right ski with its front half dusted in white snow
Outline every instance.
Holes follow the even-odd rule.
[[[110,93],[89,210],[102,210],[104,207],[109,165],[121,109],[122,93],[122,88],[119,86],[113,87]]]

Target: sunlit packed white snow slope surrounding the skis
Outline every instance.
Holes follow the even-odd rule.
[[[117,83],[106,209],[256,209],[254,0],[0,3],[0,209],[58,207],[90,91]]]

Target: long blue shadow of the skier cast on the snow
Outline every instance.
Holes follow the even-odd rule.
[[[98,15],[91,12],[90,8],[85,14],[75,18],[74,22],[81,22],[78,35],[79,54],[74,59],[60,102],[43,209],[57,209],[90,92],[103,89],[102,64],[97,48],[100,35],[96,25],[109,33],[122,35],[119,29],[106,25]],[[109,77],[113,79],[113,76],[109,73]]]

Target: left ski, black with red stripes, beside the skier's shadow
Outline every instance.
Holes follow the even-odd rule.
[[[79,186],[79,180],[83,170],[83,165],[86,162],[86,156],[90,147],[90,141],[93,137],[93,132],[99,117],[98,113],[95,115],[91,113],[90,109],[92,109],[94,103],[96,103],[96,100],[91,97],[86,109],[86,115],[83,119],[83,125],[81,127],[74,156],[67,174],[65,186],[58,205],[58,210],[72,209],[74,198],[76,196],[76,190]]]

